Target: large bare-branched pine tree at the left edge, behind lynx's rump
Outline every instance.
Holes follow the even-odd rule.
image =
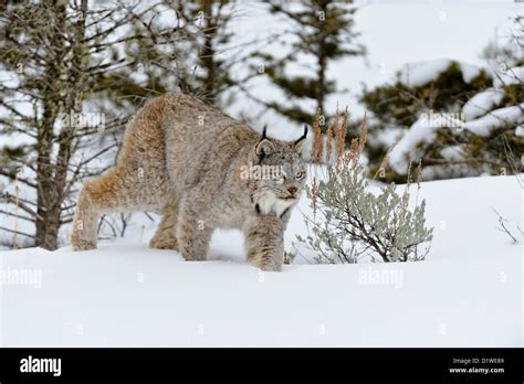
[[[115,89],[133,84],[124,70],[136,64],[118,52],[133,41],[172,45],[179,35],[172,28],[148,29],[156,6],[42,0],[0,7],[0,66],[7,74],[0,135],[23,143],[0,148],[0,175],[14,191],[19,184],[27,191],[2,191],[0,213],[33,223],[34,234],[23,235],[55,249],[60,227],[72,220],[77,182],[104,170],[93,161],[116,148],[107,134],[127,119],[109,111]],[[142,33],[126,33],[134,24]]]

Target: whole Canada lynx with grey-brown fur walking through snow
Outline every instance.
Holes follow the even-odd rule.
[[[72,248],[96,247],[103,213],[159,210],[150,247],[203,260],[214,228],[238,228],[248,259],[280,270],[290,211],[305,182],[306,135],[305,128],[294,142],[269,139],[265,127],[261,137],[193,97],[157,97],[128,124],[117,164],[84,183]]]

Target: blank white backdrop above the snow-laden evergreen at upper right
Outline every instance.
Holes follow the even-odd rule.
[[[446,57],[482,65],[483,47],[507,36],[516,10],[516,3],[503,0],[371,1],[355,17],[370,67],[352,66],[364,82],[378,84],[408,62]]]

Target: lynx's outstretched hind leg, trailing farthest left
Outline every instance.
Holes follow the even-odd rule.
[[[96,248],[97,223],[101,214],[137,210],[136,194],[140,185],[132,179],[123,177],[118,170],[114,169],[84,183],[71,230],[73,250]]]

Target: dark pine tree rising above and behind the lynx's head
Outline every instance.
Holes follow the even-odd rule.
[[[275,58],[270,54],[260,54],[264,61],[264,73],[272,84],[277,86],[293,102],[282,105],[276,102],[264,102],[265,106],[291,120],[313,121],[317,110],[325,117],[321,119],[321,129],[327,128],[327,97],[337,92],[336,82],[329,79],[329,63],[343,57],[361,56],[363,45],[356,43],[358,33],[354,32],[354,13],[356,8],[349,2],[331,0],[307,0],[300,4],[280,0],[269,1],[270,11],[283,15],[290,24],[287,31],[293,36],[289,54]],[[286,68],[302,61],[303,55],[314,60],[311,75],[291,76]],[[313,100],[315,108],[304,108],[297,102]],[[303,104],[303,103],[302,103]]]

